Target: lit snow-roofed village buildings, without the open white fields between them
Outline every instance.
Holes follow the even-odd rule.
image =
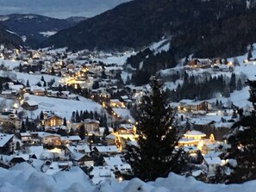
[[[3,110],[0,115],[2,166],[28,162],[39,171],[53,174],[78,165],[91,176],[93,183],[112,177],[122,179],[122,174],[130,173],[131,167],[122,152],[127,145],[134,144],[138,135],[129,108],[140,103],[147,87],[123,84],[122,66],[103,65],[93,60],[96,53],[88,51],[9,51],[2,47],[1,57],[19,60],[20,65],[14,71],[41,77],[39,83],[29,82],[29,85],[22,81],[3,84],[0,96],[13,101],[13,107],[0,106]],[[194,59],[188,65],[212,67],[212,61]],[[6,65],[2,70],[10,69]],[[43,79],[45,74],[59,77],[59,80],[49,84]],[[53,111],[42,110],[40,118],[26,118],[23,111],[33,112],[39,108],[39,103],[26,99],[29,94],[71,100],[86,96],[102,105],[103,113],[108,116],[106,126],[93,118],[77,122],[66,120]],[[192,158],[201,153],[201,164],[206,164],[191,174],[195,177],[213,176],[215,168],[224,163],[222,158],[228,145],[221,140],[232,125],[228,120],[234,114],[230,112],[233,108],[217,108],[212,102],[195,100],[172,104],[177,110],[178,125],[188,130],[177,147],[182,147]],[[25,121],[28,121],[29,129]],[[27,127],[25,131],[24,126]],[[84,135],[80,134],[81,127],[84,127]]]

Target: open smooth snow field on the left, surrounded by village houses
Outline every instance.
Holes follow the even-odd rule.
[[[33,117],[40,115],[41,110],[53,111],[56,115],[60,115],[63,118],[66,117],[66,120],[70,120],[72,111],[76,110],[78,110],[78,112],[80,112],[80,110],[97,111],[98,113],[103,112],[103,108],[100,104],[83,97],[80,97],[80,101],[76,101],[47,96],[28,95],[28,100],[38,103],[38,109],[32,112]],[[30,112],[28,112],[28,114],[30,114]]]

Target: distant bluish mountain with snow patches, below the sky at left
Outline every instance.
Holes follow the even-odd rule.
[[[70,28],[82,21],[82,18],[55,19],[43,15],[13,14],[1,15],[0,22],[25,41],[28,46],[38,46],[48,36],[59,30]]]

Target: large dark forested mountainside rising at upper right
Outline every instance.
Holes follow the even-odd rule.
[[[256,41],[255,15],[244,0],[134,0],[62,30],[42,46],[122,50],[165,36],[172,37],[178,56],[234,55]]]

